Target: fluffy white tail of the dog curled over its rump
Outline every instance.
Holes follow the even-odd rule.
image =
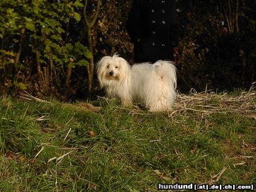
[[[164,82],[169,82],[174,86],[174,89],[177,87],[177,77],[176,77],[176,67],[172,61],[157,61],[152,67],[155,67],[155,73],[162,79]]]

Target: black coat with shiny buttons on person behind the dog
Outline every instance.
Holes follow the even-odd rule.
[[[134,0],[127,20],[135,62],[174,59],[178,43],[175,0]]]

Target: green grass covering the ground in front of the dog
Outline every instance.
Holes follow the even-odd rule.
[[[253,99],[255,106],[255,99]],[[255,119],[202,107],[152,114],[0,98],[0,191],[155,191],[157,184],[255,184]],[[215,104],[215,105],[214,105]],[[221,106],[218,97],[205,105]],[[254,113],[255,117],[255,113]],[[90,135],[93,131],[95,135]],[[226,168],[220,179],[216,174]],[[158,170],[158,171],[156,171]]]

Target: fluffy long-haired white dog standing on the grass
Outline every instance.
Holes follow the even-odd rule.
[[[176,67],[170,61],[138,63],[132,67],[114,54],[97,63],[101,87],[109,97],[118,97],[127,106],[143,102],[151,112],[172,110],[176,98]]]

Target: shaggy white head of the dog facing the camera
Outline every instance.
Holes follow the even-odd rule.
[[[101,87],[113,83],[121,83],[130,71],[131,66],[125,59],[114,54],[113,57],[105,56],[96,65],[97,76]]]

